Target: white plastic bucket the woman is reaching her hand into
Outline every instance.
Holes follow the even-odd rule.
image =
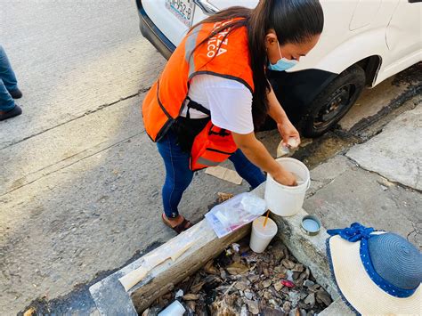
[[[304,163],[295,158],[278,158],[277,162],[289,172],[296,174],[303,182],[289,187],[272,179],[267,174],[264,199],[272,213],[280,216],[295,215],[304,204],[304,194],[311,185],[311,176]]]

